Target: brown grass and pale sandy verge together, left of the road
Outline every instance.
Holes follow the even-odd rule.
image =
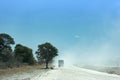
[[[0,69],[0,80],[30,80],[37,75],[42,75],[48,70],[44,65],[23,66],[20,68]]]

